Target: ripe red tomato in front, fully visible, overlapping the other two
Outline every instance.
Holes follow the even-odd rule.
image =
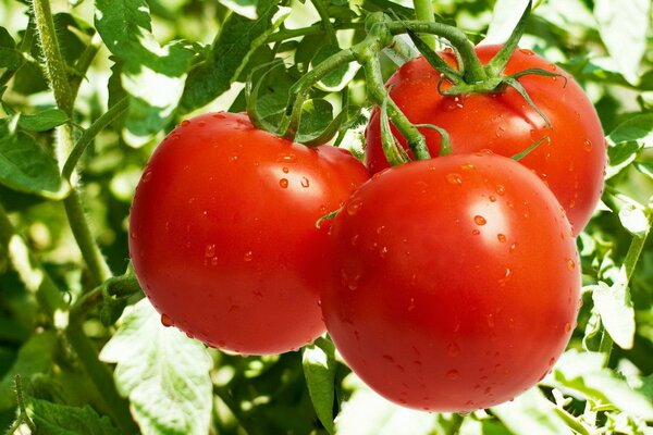
[[[571,227],[546,186],[496,154],[396,166],[332,223],[326,330],[379,394],[416,409],[485,408],[565,349],[580,290]]]

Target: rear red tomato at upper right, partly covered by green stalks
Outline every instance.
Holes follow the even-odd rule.
[[[486,63],[500,46],[481,46],[476,52]],[[451,52],[442,52],[452,65]],[[606,162],[601,122],[591,101],[574,78],[530,50],[516,50],[506,74],[542,69],[559,77],[527,75],[519,83],[551,121],[551,127],[512,87],[498,94],[446,97],[438,91],[440,73],[423,59],[404,64],[387,82],[392,99],[415,124],[433,124],[448,132],[454,153],[491,149],[512,157],[549,137],[520,160],[553,190],[578,235],[590,220],[603,189]],[[442,88],[448,85],[443,82]],[[393,127],[394,128],[394,127]],[[440,135],[420,128],[431,156],[440,152]],[[404,144],[403,137],[395,130]],[[381,148],[379,111],[366,132],[366,162],[371,173],[387,167]]]

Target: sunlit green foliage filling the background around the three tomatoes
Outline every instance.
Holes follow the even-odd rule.
[[[39,27],[39,10],[48,4],[0,0],[0,427],[42,434],[653,433],[650,0],[544,0],[528,21],[521,46],[582,84],[606,132],[611,164],[603,202],[579,238],[583,307],[568,350],[538,387],[466,415],[389,403],[349,373],[328,338],[263,358],[206,349],[163,327],[131,275],[120,277],[128,264],[130,201],[165,132],[195,113],[244,110],[244,82],[273,60],[285,66],[266,78],[258,104],[278,119],[292,83],[338,47],[359,41],[369,12],[411,17],[411,2],[57,0],[50,34],[59,39],[60,65],[46,62],[57,58],[41,39],[47,28]],[[523,4],[433,2],[439,20],[475,41],[501,40]],[[402,57],[387,53],[383,61],[391,74]],[[66,85],[57,77],[65,77],[67,94],[58,94]],[[345,95],[350,128],[336,141],[360,150],[369,103],[355,66],[313,89],[300,133],[325,128]],[[74,144],[88,145],[78,172],[63,164]],[[110,270],[93,260],[94,240]]]

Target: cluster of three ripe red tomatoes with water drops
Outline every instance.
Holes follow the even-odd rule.
[[[478,49],[481,60],[494,52]],[[542,62],[518,50],[508,73]],[[509,400],[569,340],[575,236],[602,188],[601,125],[555,71],[557,80],[521,79],[546,124],[514,90],[442,96],[440,74],[409,62],[392,97],[414,123],[444,127],[453,154],[390,169],[378,113],[367,167],[244,114],[183,122],[134,197],[130,250],[146,295],[164,324],[241,353],[296,349],[326,328],[366,383],[407,407]],[[424,136],[436,153],[440,136]],[[509,158],[545,136],[522,161]]]

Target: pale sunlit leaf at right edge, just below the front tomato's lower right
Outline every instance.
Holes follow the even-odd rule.
[[[595,407],[613,406],[629,415],[653,420],[651,400],[633,390],[621,376],[603,368],[604,360],[603,353],[568,350],[545,382],[563,393],[591,400]]]

